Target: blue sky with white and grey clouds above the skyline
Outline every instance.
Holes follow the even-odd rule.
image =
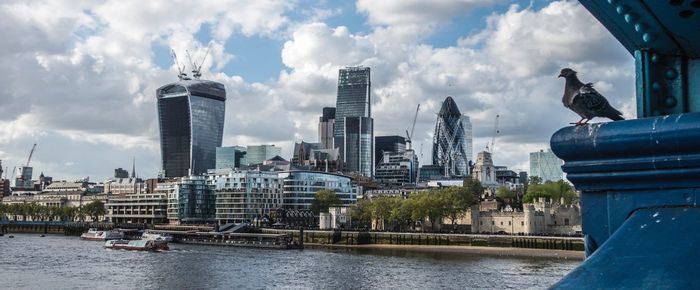
[[[494,162],[527,171],[529,152],[579,119],[562,107],[563,67],[636,117],[632,56],[577,1],[6,0],[0,31],[0,160],[24,165],[36,143],[35,178],[103,181],[133,159],[155,177],[170,52],[183,64],[208,46],[202,78],[228,95],[223,145],[276,144],[288,159],[294,142],[317,142],[345,66],[372,69],[376,136],[403,135],[421,105],[422,164],[449,95],[475,155],[500,115]]]

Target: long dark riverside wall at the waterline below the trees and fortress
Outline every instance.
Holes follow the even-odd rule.
[[[291,234],[295,239],[299,238],[299,231],[295,230],[263,229],[263,232]],[[306,244],[481,246],[583,251],[583,239],[569,237],[313,230],[306,230],[303,235]]]

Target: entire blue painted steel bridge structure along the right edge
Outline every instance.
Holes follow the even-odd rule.
[[[552,136],[581,191],[588,257],[554,288],[698,288],[700,0],[579,1],[634,55],[649,118]]]

